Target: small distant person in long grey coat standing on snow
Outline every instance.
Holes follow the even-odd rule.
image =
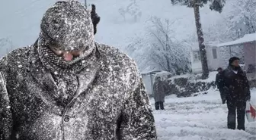
[[[165,110],[165,82],[162,81],[160,76],[155,78],[153,85],[154,99],[155,99],[155,110]]]

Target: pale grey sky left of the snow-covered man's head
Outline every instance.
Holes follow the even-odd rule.
[[[53,0],[1,0],[0,39],[8,37],[15,48],[33,43],[37,39],[43,13],[54,2]]]

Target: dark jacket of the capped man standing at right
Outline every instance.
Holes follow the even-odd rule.
[[[239,67],[237,71],[238,73],[235,73],[232,66],[223,70],[219,76],[219,88],[224,90],[226,99],[229,101],[246,101],[251,98],[248,79],[241,67]]]

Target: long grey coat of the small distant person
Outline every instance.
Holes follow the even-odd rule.
[[[155,102],[165,102],[165,82],[161,79],[155,79],[153,90]]]

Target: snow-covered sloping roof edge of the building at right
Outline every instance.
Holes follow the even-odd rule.
[[[217,45],[217,47],[230,46],[230,45],[239,45],[245,42],[254,42],[256,41],[256,33],[246,34],[240,39],[236,39],[232,42],[225,42]]]

